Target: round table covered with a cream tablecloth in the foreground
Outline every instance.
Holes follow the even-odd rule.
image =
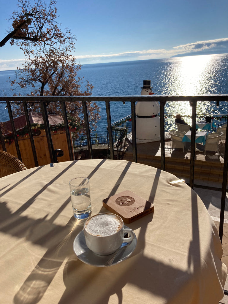
[[[92,214],[102,200],[130,190],[154,212],[127,224],[137,237],[125,261],[80,261],[68,181],[90,179]],[[4,303],[218,303],[226,266],[217,229],[198,195],[165,171],[129,161],[79,160],[0,179],[1,291]]]

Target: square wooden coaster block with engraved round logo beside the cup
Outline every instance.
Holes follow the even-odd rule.
[[[132,223],[154,212],[154,204],[128,190],[103,199],[103,207],[119,215],[124,223]]]

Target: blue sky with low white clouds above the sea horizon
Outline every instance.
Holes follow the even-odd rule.
[[[16,4],[0,4],[0,40]],[[59,0],[56,7],[62,28],[77,37],[81,64],[228,53],[227,0]],[[0,70],[22,62],[18,47],[0,48]]]

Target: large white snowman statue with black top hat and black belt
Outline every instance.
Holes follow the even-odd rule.
[[[143,80],[141,95],[153,95],[150,80]],[[145,142],[159,141],[160,117],[157,115],[160,110],[156,101],[136,103],[136,139]]]

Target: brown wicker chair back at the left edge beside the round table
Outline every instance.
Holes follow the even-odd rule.
[[[26,166],[18,158],[0,150],[0,178],[26,169]]]

